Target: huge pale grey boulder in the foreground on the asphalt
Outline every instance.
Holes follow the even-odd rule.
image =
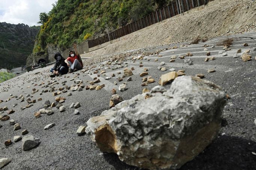
[[[225,103],[220,86],[182,76],[92,117],[86,132],[127,164],[177,169],[217,136]]]

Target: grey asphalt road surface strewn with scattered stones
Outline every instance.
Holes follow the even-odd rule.
[[[254,37],[244,38],[244,37]],[[217,46],[217,43],[227,39],[234,38],[233,44],[230,47],[230,51],[227,52],[227,56],[218,54],[219,51],[224,51],[223,46]],[[244,47],[244,43],[248,43],[248,47]],[[180,45],[185,45],[180,47]],[[53,108],[54,114],[48,116],[42,114],[42,117],[36,119],[33,116],[35,111],[42,108],[44,101],[50,100],[54,102],[55,96],[51,92],[39,93],[42,90],[49,90],[48,88],[41,88],[41,86],[35,86],[35,84],[41,84],[47,81],[56,80],[59,84],[55,84],[54,87],[59,89],[63,87],[62,81],[66,80],[66,85],[71,86],[74,81],[70,81],[77,73],[80,75],[74,79],[81,79],[85,85],[89,85],[87,81],[92,81],[96,74],[86,74],[83,72],[75,72],[74,74],[67,74],[54,78],[51,80],[50,73],[48,72],[52,66],[46,68],[36,69],[32,72],[26,72],[23,75],[13,78],[12,80],[5,81],[0,84],[0,99],[3,100],[0,103],[0,107],[7,106],[9,109],[15,110],[15,113],[10,114],[11,119],[14,119],[16,123],[20,123],[21,129],[14,131],[14,126],[9,124],[9,120],[0,122],[2,127],[0,128],[0,158],[11,158],[12,161],[3,167],[3,170],[37,170],[37,169],[86,169],[86,170],[135,170],[139,169],[121,162],[118,156],[113,153],[101,153],[92,142],[87,134],[78,136],[76,131],[80,125],[86,125],[86,121],[101,114],[102,111],[109,108],[109,101],[111,98],[111,89],[116,88],[117,93],[123,97],[123,99],[130,99],[137,94],[141,94],[143,88],[142,78],[139,74],[143,72],[144,68],[149,69],[149,75],[156,80],[155,83],[149,84],[146,88],[151,89],[158,85],[158,79],[162,74],[169,71],[169,68],[175,68],[178,70],[185,70],[186,75],[204,74],[205,79],[214,82],[223,87],[224,91],[230,96],[227,101],[226,107],[223,111],[223,123],[221,131],[218,137],[210,144],[200,155],[190,162],[187,162],[181,167],[182,170],[219,170],[219,169],[232,169],[232,170],[245,170],[256,169],[256,125],[254,119],[256,119],[256,51],[252,51],[253,47],[256,47],[256,33],[245,33],[241,35],[219,37],[209,39],[206,42],[200,42],[199,44],[182,43],[175,44],[180,48],[165,50],[157,57],[156,55],[144,57],[148,60],[136,60],[133,62],[127,60],[123,63],[128,64],[128,68],[134,67],[132,81],[118,82],[115,77],[110,80],[105,80],[104,77],[110,76],[112,73],[117,75],[117,72],[123,73],[123,68],[106,70],[106,75],[99,77],[101,80],[98,84],[105,84],[105,87],[101,90],[86,90],[85,88],[78,92],[72,92],[71,96],[67,96],[67,93],[61,95],[66,97],[66,101],[63,103],[67,110],[60,113],[57,108]],[[206,51],[204,51],[203,45],[208,44],[208,50],[211,52],[211,56],[214,56],[215,60],[204,62],[206,57]],[[160,47],[149,47],[142,49],[145,52],[155,52],[157,50],[170,48],[175,46],[174,44]],[[215,45],[214,48],[211,48]],[[245,50],[251,50],[251,61],[243,62],[240,57],[233,58],[232,56],[238,49],[242,52]],[[185,59],[191,59],[193,65],[184,63],[184,59],[179,59],[179,55],[184,55],[188,52],[193,53],[192,57],[186,57]],[[170,56],[177,56],[175,62],[169,62]],[[155,59],[158,59],[155,62]],[[167,71],[157,70],[157,66],[160,66],[160,62],[166,62]],[[143,67],[139,67],[139,63],[143,62]],[[105,63],[105,62],[102,62]],[[96,64],[99,65],[99,64]],[[98,68],[98,67],[97,67]],[[125,66],[124,66],[125,68]],[[216,72],[208,73],[208,69],[215,69]],[[114,86],[114,81],[117,81],[118,85],[123,82],[127,82],[126,87],[128,89],[124,92],[118,90],[118,85]],[[30,86],[30,87],[28,87]],[[28,88],[27,88],[28,87]],[[31,94],[32,89],[39,89],[39,92]],[[8,91],[7,91],[8,90]],[[10,94],[25,96],[25,101],[20,102],[20,99],[12,98],[10,101],[5,102],[10,98]],[[27,94],[33,97],[26,97]],[[32,107],[21,110],[21,107],[27,105],[27,98],[38,99],[42,98],[42,101],[36,101]],[[78,108],[80,114],[74,115],[74,108],[69,108],[72,102],[80,102],[81,107]],[[17,106],[13,105],[17,103]],[[7,114],[7,111],[5,113]],[[44,126],[55,123],[53,128],[44,130]],[[13,142],[10,146],[5,146],[4,142],[8,139],[13,140],[15,135],[21,135],[21,131],[27,129],[29,134],[35,138],[40,138],[41,143],[28,151],[22,149],[21,141],[17,143]]]

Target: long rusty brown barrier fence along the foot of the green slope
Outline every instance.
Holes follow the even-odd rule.
[[[140,18],[133,23],[130,23],[120,29],[114,30],[108,35],[101,36],[96,39],[89,39],[81,44],[78,44],[78,53],[83,54],[84,52],[89,52],[89,48],[95,47],[97,45],[104,44],[111,40],[120,38],[122,36],[128,35],[130,33],[136,32],[137,30],[143,29],[145,27],[151,26],[152,24],[159,23],[168,18],[174,17],[181,14],[182,12],[189,11],[190,9],[196,8],[201,5],[205,5],[208,1],[212,0],[173,0],[169,5]],[[68,50],[62,52],[62,56],[68,56]]]

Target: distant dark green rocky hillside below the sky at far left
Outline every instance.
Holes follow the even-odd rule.
[[[0,68],[11,69],[26,65],[39,28],[25,24],[0,23]]]

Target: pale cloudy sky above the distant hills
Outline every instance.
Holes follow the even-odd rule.
[[[0,0],[0,22],[38,26],[40,12],[48,13],[57,0]]]

